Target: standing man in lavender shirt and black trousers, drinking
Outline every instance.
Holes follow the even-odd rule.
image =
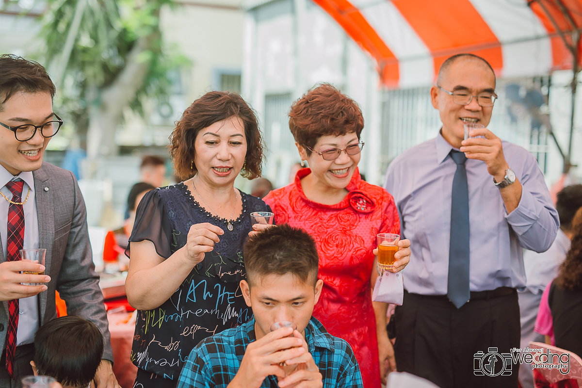
[[[441,387],[517,386],[517,366],[503,353],[519,347],[522,248],[547,250],[559,227],[534,157],[487,129],[495,81],[491,65],[478,56],[446,60],[431,88],[442,121],[438,136],[403,152],[386,174],[385,188],[412,250],[404,302],[395,311],[396,364]],[[471,132],[481,138],[464,140],[467,122],[485,126]],[[452,150],[467,158],[469,195],[469,257],[463,259],[469,262],[470,298],[459,308],[447,297],[457,170]]]

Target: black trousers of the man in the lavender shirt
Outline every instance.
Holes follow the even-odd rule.
[[[459,309],[446,296],[404,291],[395,324],[399,372],[413,373],[441,388],[517,387],[519,365],[507,358],[520,343],[514,289],[471,293],[471,301]],[[492,356],[491,351],[499,355]]]

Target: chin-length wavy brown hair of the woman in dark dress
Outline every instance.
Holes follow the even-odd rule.
[[[242,176],[254,179],[261,176],[262,138],[255,113],[240,95],[233,92],[211,91],[189,106],[170,135],[170,155],[176,175],[182,180],[196,175],[194,141],[204,128],[232,117],[244,124],[247,155]]]

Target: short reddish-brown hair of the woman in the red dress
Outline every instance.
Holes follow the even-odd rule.
[[[360,139],[364,117],[353,99],[330,84],[321,84],[293,102],[289,129],[297,143],[313,148],[321,136],[356,133]],[[306,151],[311,155],[309,149]]]

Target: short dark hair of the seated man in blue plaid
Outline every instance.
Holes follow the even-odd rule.
[[[302,282],[317,283],[319,257],[315,240],[305,230],[287,224],[269,227],[244,245],[249,286],[257,277],[291,273]],[[254,283],[256,284],[256,283]]]

